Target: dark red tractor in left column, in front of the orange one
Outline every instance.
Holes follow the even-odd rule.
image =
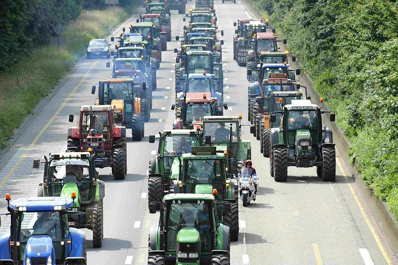
[[[79,152],[92,149],[96,154],[96,168],[112,168],[115,179],[127,173],[126,128],[117,126],[110,105],[83,105],[76,127],[68,129],[68,150]],[[121,116],[121,114],[120,114]],[[139,115],[142,123],[144,120]],[[73,122],[74,114],[69,115]],[[143,129],[142,129],[143,135]]]

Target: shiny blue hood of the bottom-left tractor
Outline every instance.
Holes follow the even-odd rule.
[[[31,236],[26,243],[24,259],[28,257],[31,264],[47,264],[47,259],[52,253],[53,241],[50,236]]]

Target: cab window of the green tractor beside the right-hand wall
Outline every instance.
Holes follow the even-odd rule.
[[[290,110],[287,119],[289,144],[295,144],[297,130],[309,130],[312,141],[317,142],[318,112],[316,110]]]

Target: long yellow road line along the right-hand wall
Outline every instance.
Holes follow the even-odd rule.
[[[364,217],[365,222],[366,222],[366,224],[368,225],[368,227],[369,227],[369,229],[370,229],[370,232],[372,233],[373,238],[374,238],[375,241],[376,241],[376,244],[379,246],[379,249],[380,249],[381,253],[383,254],[384,259],[386,260],[386,262],[387,262],[388,264],[393,264],[392,261],[391,261],[391,259],[390,259],[390,257],[389,257],[389,255],[387,254],[386,249],[385,249],[384,246],[383,246],[382,241],[380,240],[379,235],[378,235],[377,232],[376,232],[375,227],[373,226],[373,224],[372,224],[371,221],[369,220],[368,215],[366,214],[365,209],[364,209],[362,203],[359,201],[358,196],[355,194],[355,190],[354,190],[352,184],[348,181],[348,177],[347,177],[347,176],[350,176],[350,174],[343,168],[343,165],[341,164],[340,160],[341,160],[340,157],[339,157],[339,158],[336,157],[337,165],[339,166],[340,171],[341,171],[343,177],[344,177],[345,180],[347,181],[348,187],[350,188],[350,191],[351,191],[352,195],[354,196],[355,201],[357,202],[357,205],[358,205],[358,207],[359,207],[359,210],[361,211],[362,216]]]

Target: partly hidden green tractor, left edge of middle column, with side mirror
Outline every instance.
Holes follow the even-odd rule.
[[[149,142],[155,142],[155,135],[149,136]],[[167,193],[174,193],[170,179],[170,170],[174,158],[190,153],[191,148],[200,146],[197,130],[165,130],[159,133],[159,146],[156,157],[149,161],[148,170],[148,206],[151,202],[160,202]]]

